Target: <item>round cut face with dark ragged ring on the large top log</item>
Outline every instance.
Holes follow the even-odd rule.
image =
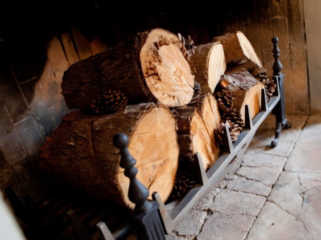
[[[194,75],[188,60],[183,44],[173,33],[156,28],[148,34],[140,62],[146,84],[159,102],[181,106],[192,99]]]

